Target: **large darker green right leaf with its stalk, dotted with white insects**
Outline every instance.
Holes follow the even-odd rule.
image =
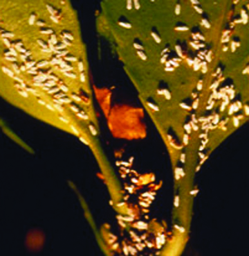
[[[174,170],[173,239],[181,255],[195,172],[249,115],[247,1],[103,0],[98,31],[124,64]],[[179,228],[180,227],[180,228]]]

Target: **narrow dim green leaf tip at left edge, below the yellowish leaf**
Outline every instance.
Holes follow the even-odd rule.
[[[24,142],[8,125],[8,123],[0,117],[0,128],[3,131],[3,133],[8,136],[10,139],[12,139],[13,142],[21,146],[21,148],[24,148],[28,153],[35,154],[35,151],[33,148],[28,146],[26,142]]]

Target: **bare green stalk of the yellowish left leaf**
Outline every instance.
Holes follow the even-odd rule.
[[[107,157],[107,152],[104,151],[103,145],[99,139],[95,139],[90,147],[104,176],[104,182],[109,190],[113,203],[113,209],[116,210],[118,214],[129,214],[129,210],[126,205],[118,207],[118,204],[123,202],[122,185],[113,166],[111,165],[110,160]]]

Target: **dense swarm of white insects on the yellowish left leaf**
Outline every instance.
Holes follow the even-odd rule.
[[[59,24],[63,19],[62,10],[50,4],[47,4],[46,8],[51,22]],[[39,104],[51,111],[59,112],[59,119],[65,123],[69,123],[69,119],[64,110],[69,109],[78,121],[86,122],[91,135],[97,135],[95,125],[84,110],[90,103],[89,95],[83,89],[72,92],[68,87],[70,79],[79,80],[81,85],[86,81],[82,59],[70,53],[74,40],[73,33],[64,29],[57,35],[35,12],[30,13],[27,22],[39,30],[37,46],[44,58],[35,60],[32,51],[26,48],[21,39],[16,38],[14,33],[5,28],[0,28],[0,39],[5,46],[2,71],[14,80],[14,87],[21,96],[35,96]],[[65,80],[68,80],[68,83]],[[80,140],[87,144],[80,135],[77,125],[70,125]]]

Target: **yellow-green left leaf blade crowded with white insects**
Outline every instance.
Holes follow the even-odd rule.
[[[1,1],[0,96],[86,144],[98,134],[77,14],[68,1]]]

